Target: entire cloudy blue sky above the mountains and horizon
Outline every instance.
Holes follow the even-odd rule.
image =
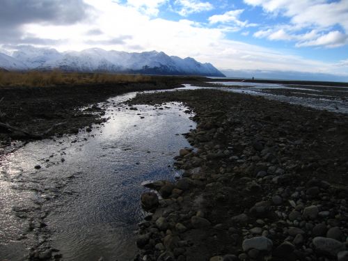
[[[0,52],[157,50],[220,70],[348,77],[348,0],[1,0]]]

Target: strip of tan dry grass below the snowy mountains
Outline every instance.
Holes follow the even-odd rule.
[[[102,73],[50,72],[3,72],[0,71],[0,87],[25,86],[47,87],[77,84],[112,84],[150,81],[150,76]]]

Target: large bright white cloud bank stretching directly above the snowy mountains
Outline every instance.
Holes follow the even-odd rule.
[[[85,0],[95,7],[96,19],[72,25],[26,24],[33,37],[59,40],[59,51],[90,47],[125,52],[163,51],[191,56],[220,69],[345,72],[347,67],[302,58],[272,49],[226,39],[226,29],[200,26],[189,19],[170,21],[144,14],[138,8],[112,1]],[[95,32],[90,34],[90,30]],[[99,30],[97,30],[99,29]],[[268,35],[271,35],[269,31]],[[66,40],[61,40],[66,39]],[[308,38],[310,39],[310,38]]]

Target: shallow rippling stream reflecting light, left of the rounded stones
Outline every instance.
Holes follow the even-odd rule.
[[[141,182],[173,180],[173,157],[189,147],[177,134],[196,126],[178,103],[118,104],[135,94],[106,102],[108,122],[90,133],[29,143],[1,159],[0,260],[25,260],[39,245],[63,260],[134,258]]]

